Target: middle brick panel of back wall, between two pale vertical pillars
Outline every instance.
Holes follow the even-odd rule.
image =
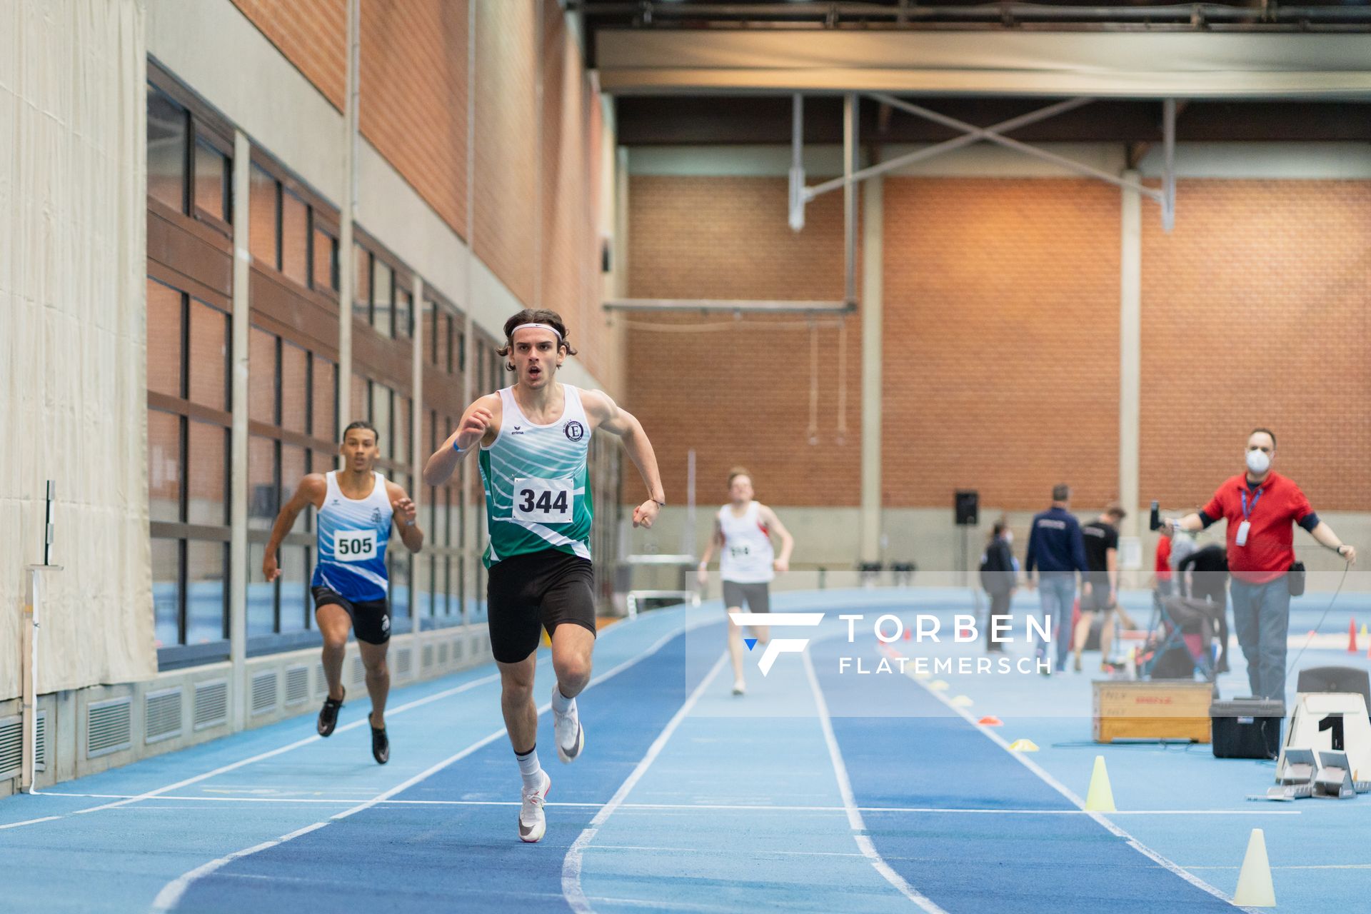
[[[1119,226],[1094,181],[886,181],[883,504],[1117,495]]]

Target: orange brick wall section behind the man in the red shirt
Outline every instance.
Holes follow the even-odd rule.
[[[1143,210],[1142,499],[1202,504],[1248,433],[1315,510],[1371,510],[1371,182],[1180,181]]]

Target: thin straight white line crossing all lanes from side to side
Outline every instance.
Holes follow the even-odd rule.
[[[48,793],[48,796],[80,796],[89,799],[133,799],[130,793]],[[155,800],[191,802],[191,803],[326,803],[330,806],[347,806],[358,803],[366,798],[361,796],[178,796],[163,793],[152,798]],[[518,806],[517,800],[395,800],[385,799],[377,802],[378,806]],[[602,803],[547,803],[546,806],[588,806],[599,808]],[[170,807],[167,807],[170,808]],[[729,813],[846,813],[846,806],[788,806],[768,803],[621,803],[620,810],[702,810],[702,811],[729,811]],[[995,810],[995,808],[962,808],[942,806],[858,806],[860,813],[946,813],[950,815],[1090,815],[1086,810]],[[1127,810],[1115,815],[1302,815],[1300,810]],[[53,817],[55,818],[55,817]],[[43,821],[43,819],[33,819]],[[23,825],[23,822],[16,822]],[[0,828],[8,828],[0,825]]]

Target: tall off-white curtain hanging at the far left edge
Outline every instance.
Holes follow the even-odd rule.
[[[156,671],[145,78],[143,0],[0,0],[0,699],[49,478],[38,691]]]

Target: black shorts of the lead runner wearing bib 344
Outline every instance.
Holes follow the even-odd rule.
[[[485,585],[491,652],[518,663],[537,650],[539,629],[551,634],[572,622],[595,633],[595,574],[590,560],[559,549],[500,559]]]

